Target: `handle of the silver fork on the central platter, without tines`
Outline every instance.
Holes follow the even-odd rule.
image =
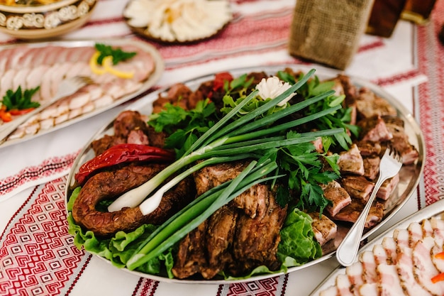
[[[370,212],[370,207],[372,207],[379,187],[381,187],[382,183],[387,179],[387,177],[379,175],[367,204],[365,204],[364,209],[357,217],[357,220],[353,224],[352,228],[350,228],[347,235],[345,235],[345,238],[343,241],[341,241],[340,245],[336,249],[336,259],[341,265],[350,266],[355,261],[357,250],[359,249],[362,239],[362,233],[364,232],[365,221],[367,221],[367,216]]]

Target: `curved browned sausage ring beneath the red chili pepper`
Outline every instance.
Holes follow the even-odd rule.
[[[114,199],[124,192],[150,180],[165,165],[128,165],[114,171],[98,172],[84,184],[72,207],[74,220],[96,236],[110,236],[117,231],[132,231],[142,224],[160,224],[194,199],[192,182],[185,179],[162,198],[159,207],[143,215],[138,207],[124,208],[118,212],[101,212],[97,204],[104,199]]]

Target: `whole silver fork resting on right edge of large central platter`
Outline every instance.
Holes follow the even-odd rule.
[[[381,187],[385,180],[394,177],[401,169],[401,166],[401,155],[399,155],[399,153],[397,153],[393,148],[387,147],[384,155],[381,158],[381,163],[379,163],[379,177],[374,184],[372,194],[370,195],[367,204],[365,204],[361,214],[355,221],[355,224],[353,224],[352,228],[348,231],[347,235],[336,250],[336,259],[338,259],[338,262],[341,265],[350,266],[355,261],[357,250],[362,239],[365,221],[379,187]]]

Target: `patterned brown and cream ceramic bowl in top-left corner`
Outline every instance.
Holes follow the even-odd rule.
[[[0,32],[20,39],[52,38],[86,23],[97,0],[0,0]]]

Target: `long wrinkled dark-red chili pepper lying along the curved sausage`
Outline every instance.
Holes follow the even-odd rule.
[[[79,168],[79,172],[74,177],[82,185],[93,172],[102,168],[108,168],[111,165],[148,160],[172,161],[174,158],[173,152],[162,148],[140,144],[118,144],[108,148],[104,153],[97,155],[95,158],[88,160]]]

